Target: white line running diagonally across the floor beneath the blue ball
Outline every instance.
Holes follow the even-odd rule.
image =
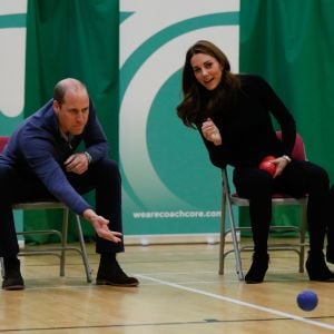
[[[179,284],[176,284],[176,283],[154,278],[154,277],[146,276],[146,275],[137,275],[137,277],[149,279],[149,281],[153,281],[153,282],[156,282],[156,283],[159,283],[159,284],[163,284],[163,285],[168,285],[168,286],[171,286],[171,287],[175,287],[175,288],[178,288],[178,289],[193,292],[195,294],[199,294],[199,295],[213,297],[213,298],[216,298],[216,299],[234,303],[234,304],[246,306],[246,307],[249,307],[249,308],[255,308],[255,310],[263,311],[263,312],[266,312],[266,313],[272,313],[272,314],[275,314],[275,315],[278,315],[278,316],[282,316],[282,317],[292,318],[292,320],[295,320],[295,321],[298,321],[298,322],[302,322],[302,323],[306,323],[306,324],[310,324],[310,325],[314,325],[314,326],[318,326],[318,327],[323,327],[323,328],[334,331],[333,325],[320,323],[320,322],[312,321],[312,320],[308,320],[308,318],[305,318],[305,317],[302,317],[302,316],[297,316],[297,315],[285,313],[285,312],[281,312],[281,311],[277,311],[277,310],[274,310],[274,308],[258,306],[258,305],[255,305],[255,304],[250,304],[250,303],[242,302],[242,301],[238,301],[238,299],[234,299],[234,298],[212,294],[212,293],[208,293],[208,292],[205,292],[205,291],[202,291],[202,289],[179,285]],[[194,282],[194,283],[196,283],[196,282]]]

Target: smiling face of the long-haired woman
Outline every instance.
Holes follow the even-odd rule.
[[[207,90],[214,90],[222,80],[223,66],[206,53],[196,53],[190,59],[196,80]]]

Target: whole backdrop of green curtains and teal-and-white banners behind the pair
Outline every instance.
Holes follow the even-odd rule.
[[[332,181],[333,7],[325,0],[1,0],[0,132],[10,135],[45,104],[59,79],[77,77],[121,168],[126,235],[143,243],[212,238],[219,229],[219,170],[175,112],[186,49],[212,39],[234,71],[264,76],[295,116],[308,159]],[[24,226],[33,222],[35,214],[24,214]]]

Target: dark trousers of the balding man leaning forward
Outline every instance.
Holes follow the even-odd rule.
[[[109,219],[109,229],[122,232],[121,178],[116,161],[102,159],[90,165],[82,175],[72,173],[67,176],[80,195],[95,189],[96,213]],[[12,204],[55,200],[55,197],[38,178],[18,174],[8,165],[0,164],[0,256],[16,256],[19,247]],[[115,244],[97,236],[96,252],[99,254],[124,252],[124,243]]]

